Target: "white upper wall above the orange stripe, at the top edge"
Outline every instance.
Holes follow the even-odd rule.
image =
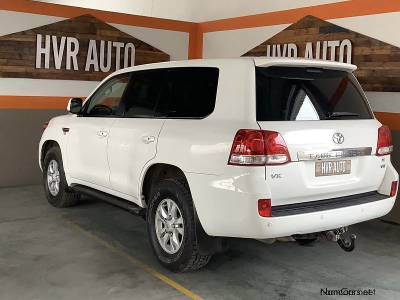
[[[35,0],[191,22],[285,10],[345,0]]]

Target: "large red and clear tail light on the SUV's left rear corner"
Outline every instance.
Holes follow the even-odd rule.
[[[289,151],[279,132],[240,129],[233,139],[228,164],[265,165],[289,161]]]

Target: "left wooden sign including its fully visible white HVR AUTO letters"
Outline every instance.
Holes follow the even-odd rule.
[[[0,77],[100,81],[169,55],[91,16],[0,36]]]

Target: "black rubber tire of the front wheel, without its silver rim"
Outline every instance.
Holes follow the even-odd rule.
[[[55,160],[59,171],[59,190],[56,195],[52,195],[47,184],[47,168],[50,161]],[[50,148],[43,160],[43,187],[47,201],[55,207],[69,207],[75,205],[80,199],[80,193],[71,191],[66,183],[64,167],[62,164],[61,149],[56,146]]]

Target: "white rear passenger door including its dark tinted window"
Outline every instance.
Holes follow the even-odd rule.
[[[112,189],[138,197],[140,172],[154,158],[166,117],[168,70],[142,70],[132,76],[124,96],[124,113],[111,125],[107,156]],[[157,105],[158,104],[158,105]]]

